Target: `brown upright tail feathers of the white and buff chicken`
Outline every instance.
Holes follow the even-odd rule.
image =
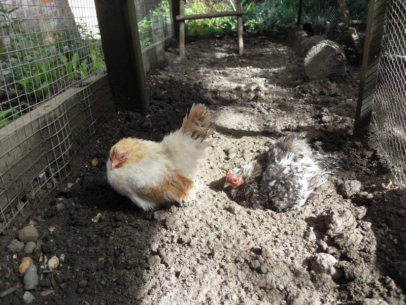
[[[209,146],[203,143],[214,131],[213,124],[210,123],[209,110],[203,104],[193,104],[188,114],[183,119],[182,132],[184,135],[190,134],[192,139],[201,139],[202,148]],[[206,144],[206,145],[205,145]]]

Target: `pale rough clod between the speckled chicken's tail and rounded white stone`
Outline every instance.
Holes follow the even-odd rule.
[[[324,223],[330,236],[335,236],[357,227],[357,221],[349,209],[330,208],[324,218]]]

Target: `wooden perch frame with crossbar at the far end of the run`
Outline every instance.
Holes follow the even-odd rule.
[[[179,22],[179,56],[185,57],[185,20],[193,19],[207,19],[207,18],[218,18],[227,16],[237,17],[237,34],[238,34],[238,53],[239,55],[244,54],[244,41],[243,41],[243,15],[244,10],[241,4],[241,0],[236,0],[237,7],[236,11],[233,12],[215,12],[207,14],[195,14],[195,15],[185,15],[185,1],[180,0],[179,2],[179,15],[176,16],[175,20]]]

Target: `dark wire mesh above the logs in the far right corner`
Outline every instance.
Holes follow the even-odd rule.
[[[345,2],[350,12],[351,20],[365,21],[367,18],[368,1],[353,0]],[[303,22],[312,25],[316,35],[326,35],[328,39],[352,47],[354,43],[349,34],[349,26],[356,28],[358,33],[365,32],[365,24],[351,24],[344,18],[343,11],[337,0],[309,0],[303,7]]]

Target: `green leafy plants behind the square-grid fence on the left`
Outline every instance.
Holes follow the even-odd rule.
[[[47,43],[40,32],[22,31],[23,20],[10,16],[17,10],[0,10],[5,19],[3,31],[9,37],[7,45],[0,47],[0,69],[9,71],[4,73],[5,86],[24,92],[30,104],[59,93],[105,66],[101,47],[85,23],[54,32],[52,42]],[[0,121],[8,123],[10,118],[6,116],[15,118],[15,112],[15,108],[2,111]]]

